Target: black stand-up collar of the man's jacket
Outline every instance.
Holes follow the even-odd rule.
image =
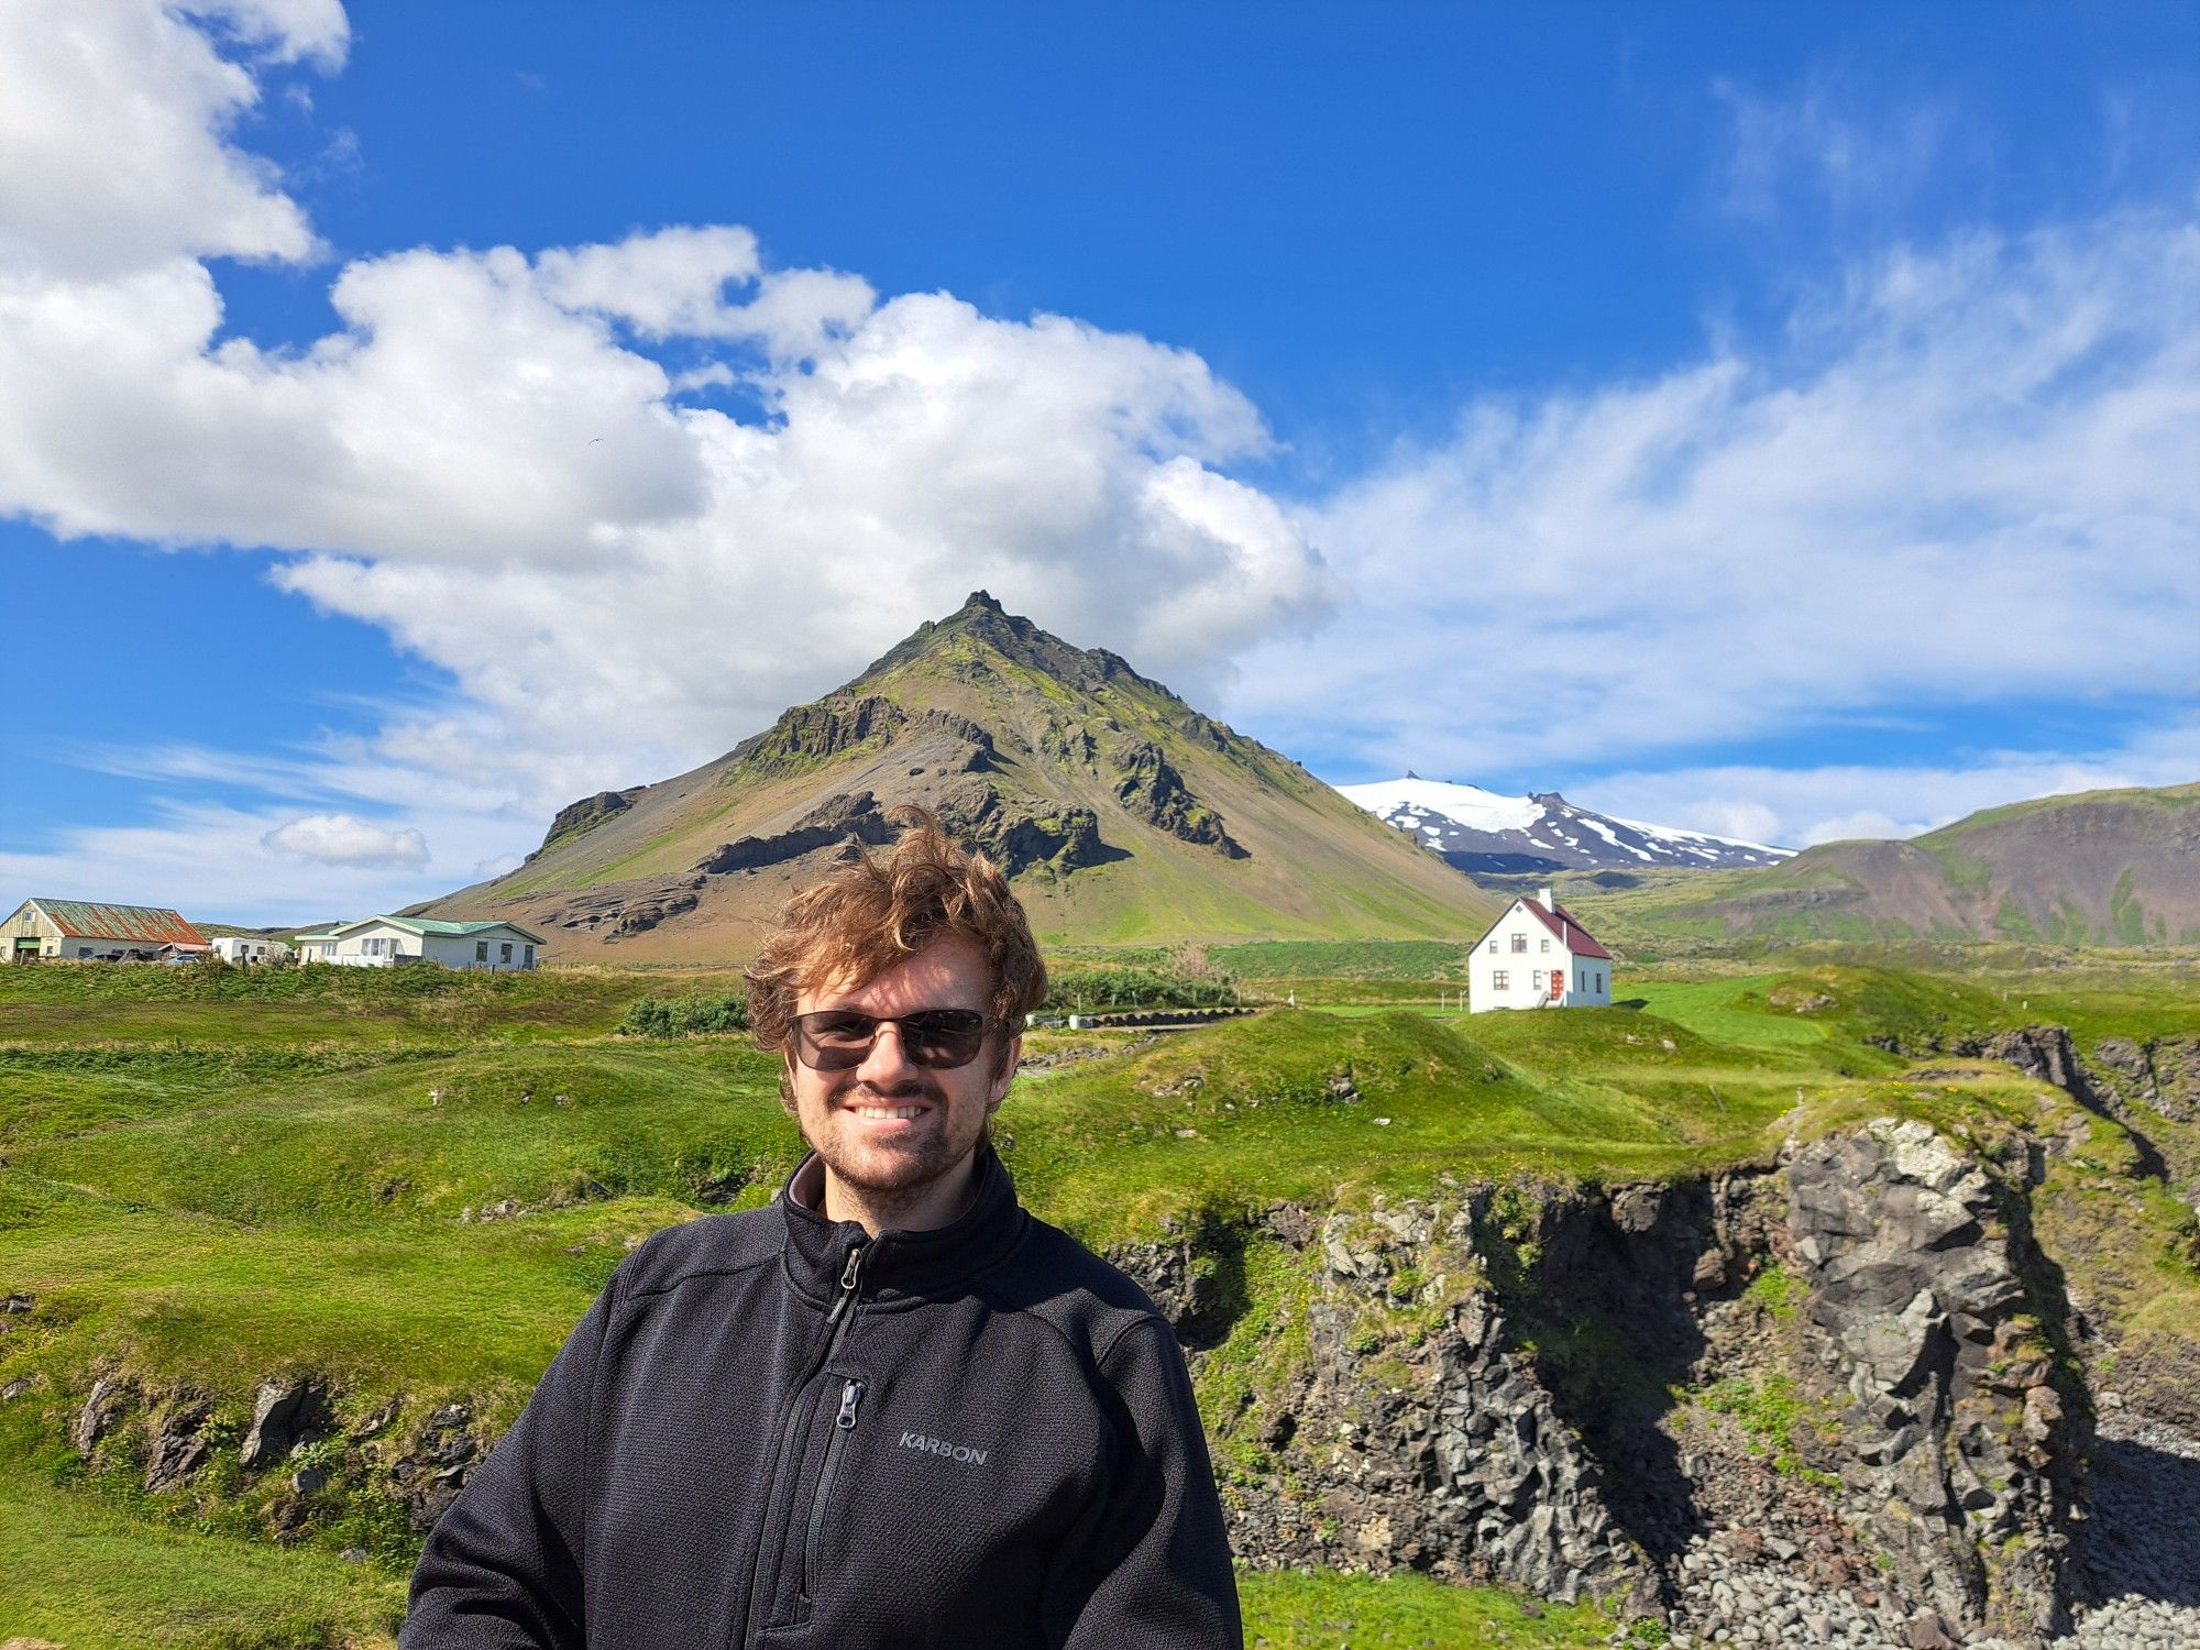
[[[803,1201],[818,1197],[823,1179],[823,1164],[810,1153],[779,1190],[779,1212],[788,1228],[781,1250],[788,1283],[814,1302],[832,1300],[847,1252],[858,1245],[869,1250],[862,1258],[862,1294],[876,1300],[942,1294],[997,1265],[1023,1236],[1025,1214],[990,1142],[977,1148],[975,1168],[975,1195],[957,1221],[931,1232],[887,1228],[873,1241],[854,1221],[827,1221],[821,1208]]]

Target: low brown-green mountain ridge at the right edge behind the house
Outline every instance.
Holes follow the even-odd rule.
[[[1613,902],[1698,933],[2200,944],[2200,785],[2042,796]]]

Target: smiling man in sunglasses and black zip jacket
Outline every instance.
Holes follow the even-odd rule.
[[[1239,1646],[1168,1324],[988,1137],[1045,997],[1005,878],[924,818],[748,979],[810,1155],[620,1265],[429,1536],[403,1646]]]

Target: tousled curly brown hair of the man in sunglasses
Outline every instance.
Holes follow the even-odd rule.
[[[867,986],[904,957],[948,935],[966,935],[986,953],[992,975],[990,1014],[1005,1036],[994,1047],[994,1076],[1023,1016],[1047,997],[1047,966],[1032,924],[983,854],[964,854],[922,807],[891,814],[902,838],[884,856],[858,849],[854,862],[796,893],[779,926],[748,966],[748,1027],[757,1047],[788,1047],[794,999],[825,981]]]

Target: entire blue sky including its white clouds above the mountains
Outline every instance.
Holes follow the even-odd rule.
[[[1338,783],[2189,781],[2196,202],[2171,4],[13,7],[0,882],[425,898],[977,585]]]

